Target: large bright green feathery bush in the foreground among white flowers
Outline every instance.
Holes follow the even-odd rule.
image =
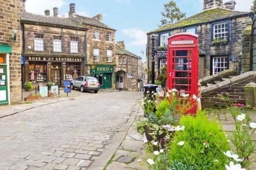
[[[177,132],[170,144],[170,162],[176,160],[185,164],[186,157],[189,165],[197,169],[225,167],[228,159],[223,151],[229,150],[229,143],[221,125],[215,120],[210,121],[204,113],[182,117],[180,125],[184,125],[185,130]],[[177,144],[180,141],[184,141],[183,146]]]

